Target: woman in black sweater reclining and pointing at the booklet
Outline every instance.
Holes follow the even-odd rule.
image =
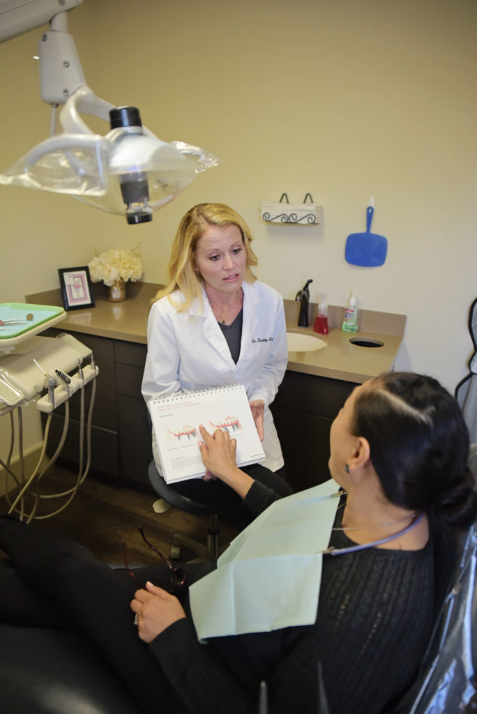
[[[206,478],[239,494],[256,517],[251,533],[260,535],[266,518],[278,507],[286,513],[298,496],[313,511],[321,486],[280,499],[237,468],[228,433],[201,427],[201,438]],[[380,713],[408,687],[430,636],[433,526],[456,531],[476,518],[468,432],[437,381],[387,373],[348,397],[330,446],[336,483],[328,489],[329,543],[316,544],[323,555],[311,559],[306,578],[292,582],[297,609],[302,597],[318,603],[308,621],[199,638],[194,588],[208,593],[200,605],[212,619],[229,607],[207,588],[220,563],[217,570],[211,563],[135,568],[137,585],[126,568],[113,570],[79,543],[12,516],[0,518],[0,548],[14,566],[0,570],[0,620],[86,633],[148,713],[253,713],[262,680],[272,714]],[[301,523],[288,527],[296,527],[299,540]],[[247,529],[240,538],[248,537]],[[290,579],[284,568],[281,576],[271,573],[266,590],[253,579],[236,585],[279,609]],[[289,605],[283,598],[293,612]]]

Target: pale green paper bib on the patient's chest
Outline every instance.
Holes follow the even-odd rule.
[[[189,588],[199,640],[311,625],[339,498],[336,481],[282,498]]]

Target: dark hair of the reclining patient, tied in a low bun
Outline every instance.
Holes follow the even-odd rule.
[[[432,377],[389,372],[356,397],[353,433],[391,503],[425,511],[438,525],[469,526],[477,516],[468,468],[468,429],[456,399]]]

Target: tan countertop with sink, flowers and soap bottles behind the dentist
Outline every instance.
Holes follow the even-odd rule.
[[[56,327],[65,331],[145,345],[149,308],[159,287],[153,283],[127,283],[126,300],[113,303],[106,300],[106,288],[102,283],[95,283],[96,306],[67,311],[66,318]],[[25,300],[40,305],[63,306],[60,288],[27,295]],[[310,304],[310,327],[298,328],[299,304],[291,300],[285,300],[284,303],[288,331],[317,336],[312,327],[316,304]],[[330,331],[328,335],[319,335],[326,341],[326,348],[318,351],[289,352],[289,370],[362,383],[393,368],[403,339],[406,316],[363,310],[358,313],[359,331],[343,333],[340,328],[341,313],[341,307],[329,306]],[[350,338],[381,342],[383,346],[361,347],[352,344]]]

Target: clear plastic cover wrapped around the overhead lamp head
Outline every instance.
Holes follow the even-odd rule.
[[[146,210],[152,212],[184,191],[196,174],[219,163],[199,146],[167,144],[152,134],[64,132],[34,146],[0,174],[0,184],[69,193],[90,206],[125,215],[124,181],[147,181]]]

